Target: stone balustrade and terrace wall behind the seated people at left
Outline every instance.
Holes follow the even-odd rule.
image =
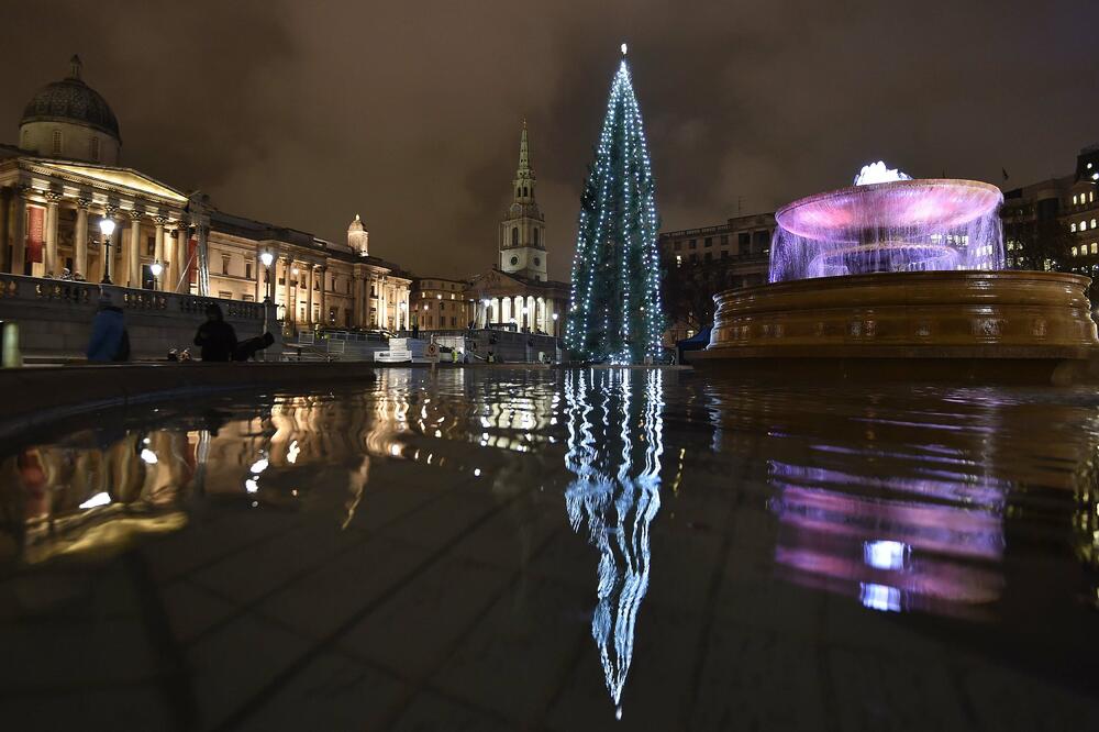
[[[211,302],[221,306],[238,340],[267,330],[276,339],[270,352],[281,351],[273,306],[95,282],[0,274],[0,320],[19,323],[21,350],[30,361],[82,358],[101,287],[125,313],[134,359],[163,361],[170,348],[189,347],[197,355],[195,332]]]

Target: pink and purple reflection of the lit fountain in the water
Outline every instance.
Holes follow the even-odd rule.
[[[775,550],[792,579],[873,610],[973,614],[999,598],[1007,484],[868,477],[771,463]],[[895,497],[889,497],[889,496]]]

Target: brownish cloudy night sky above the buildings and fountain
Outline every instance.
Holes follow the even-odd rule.
[[[1023,185],[1099,142],[1087,0],[5,2],[0,140],[79,53],[123,162],[229,212],[343,240],[418,274],[495,260],[529,120],[551,276],[630,43],[664,229],[850,182]]]

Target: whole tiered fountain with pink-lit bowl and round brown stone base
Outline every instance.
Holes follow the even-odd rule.
[[[1003,270],[999,189],[884,163],[780,209],[770,282],[714,296],[701,368],[778,378],[1099,376],[1088,278]]]

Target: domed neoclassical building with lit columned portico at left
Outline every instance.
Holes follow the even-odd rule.
[[[74,56],[68,76],[26,104],[18,144],[0,145],[0,271],[271,297],[291,330],[408,328],[412,278],[370,256],[357,215],[346,243],[328,242],[220,211],[199,191],[125,167],[121,154],[118,119]],[[109,240],[104,219],[115,223]]]

